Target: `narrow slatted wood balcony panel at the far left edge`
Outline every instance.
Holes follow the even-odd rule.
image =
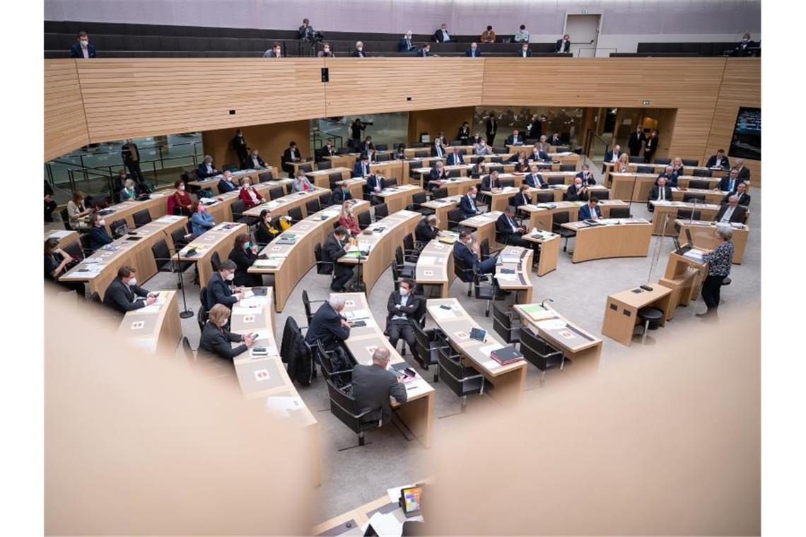
[[[89,143],[76,60],[48,60],[44,68],[44,159]]]

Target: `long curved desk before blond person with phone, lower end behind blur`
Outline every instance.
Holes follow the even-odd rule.
[[[273,419],[288,419],[305,431],[308,450],[300,454],[302,471],[310,472],[311,482],[318,486],[321,481],[319,423],[314,413],[305,406],[280,359],[280,347],[274,337],[272,287],[266,287],[266,290],[265,296],[243,299],[232,308],[231,332],[257,333],[259,337],[252,349],[265,347],[268,350],[267,357],[251,357],[251,349],[235,357],[235,374],[238,375],[244,397],[263,400],[266,412]]]

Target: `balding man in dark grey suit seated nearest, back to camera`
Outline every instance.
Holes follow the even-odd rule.
[[[310,333],[310,332],[309,332]],[[360,413],[368,412],[362,420],[364,423],[387,423],[392,419],[392,404],[389,398],[397,403],[405,403],[407,399],[405,386],[397,374],[388,370],[389,351],[384,347],[372,353],[372,365],[358,364],[352,372],[352,394]]]

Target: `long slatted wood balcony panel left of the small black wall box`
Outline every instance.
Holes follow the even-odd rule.
[[[325,115],[315,58],[79,62],[89,136],[117,140]],[[235,115],[230,110],[235,109]]]

